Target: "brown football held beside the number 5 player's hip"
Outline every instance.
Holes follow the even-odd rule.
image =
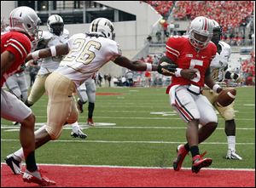
[[[218,106],[230,105],[236,99],[236,88],[224,88],[219,94],[216,104]]]

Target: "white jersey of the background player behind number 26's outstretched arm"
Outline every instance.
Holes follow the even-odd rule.
[[[66,43],[69,38],[69,31],[67,31],[67,29],[64,29],[63,34],[61,36],[56,36],[54,33],[51,33],[49,31],[43,31],[42,38],[42,40],[44,40],[44,43],[46,43],[45,48],[49,48],[51,46],[56,46],[61,43]],[[60,55],[42,59],[38,75],[44,75],[52,71],[55,71],[58,68],[58,66],[60,66],[62,57],[63,56]]]

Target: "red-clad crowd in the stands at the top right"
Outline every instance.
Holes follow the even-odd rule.
[[[245,36],[245,27],[252,20],[253,1],[144,1],[151,5],[167,20],[173,14],[174,20],[193,20],[196,16],[205,15],[216,20],[223,27],[223,40],[232,46],[252,45],[253,29]],[[173,8],[172,8],[173,7]],[[239,12],[239,14],[237,14]],[[160,23],[166,35],[166,28],[172,23]],[[251,25],[253,27],[253,24]],[[237,31],[239,28],[239,31]],[[174,33],[180,35],[180,33]],[[168,36],[172,32],[168,33]],[[158,33],[158,36],[160,33]],[[246,40],[247,38],[247,40]],[[159,40],[160,41],[160,40]]]

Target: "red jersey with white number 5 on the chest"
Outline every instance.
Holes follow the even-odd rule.
[[[166,93],[173,85],[194,84],[199,87],[204,86],[205,73],[215,57],[217,47],[210,42],[207,48],[196,51],[195,47],[189,42],[189,37],[174,36],[166,42],[166,56],[175,62],[178,68],[194,69],[197,77],[188,80],[183,77],[172,77],[172,83],[167,88]]]

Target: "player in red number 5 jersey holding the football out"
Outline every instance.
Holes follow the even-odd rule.
[[[163,59],[177,64],[178,68],[172,76],[172,83],[166,94],[170,96],[170,104],[179,116],[187,123],[185,145],[177,148],[177,158],[173,162],[174,170],[178,171],[184,157],[192,154],[192,172],[198,173],[201,168],[208,167],[212,158],[203,158],[199,143],[206,140],[217,128],[218,117],[212,104],[201,94],[206,83],[215,92],[222,88],[211,77],[209,66],[215,57],[217,48],[211,42],[212,22],[199,16],[191,21],[189,36],[170,37],[166,42],[166,56]],[[199,123],[202,125],[199,128]]]

